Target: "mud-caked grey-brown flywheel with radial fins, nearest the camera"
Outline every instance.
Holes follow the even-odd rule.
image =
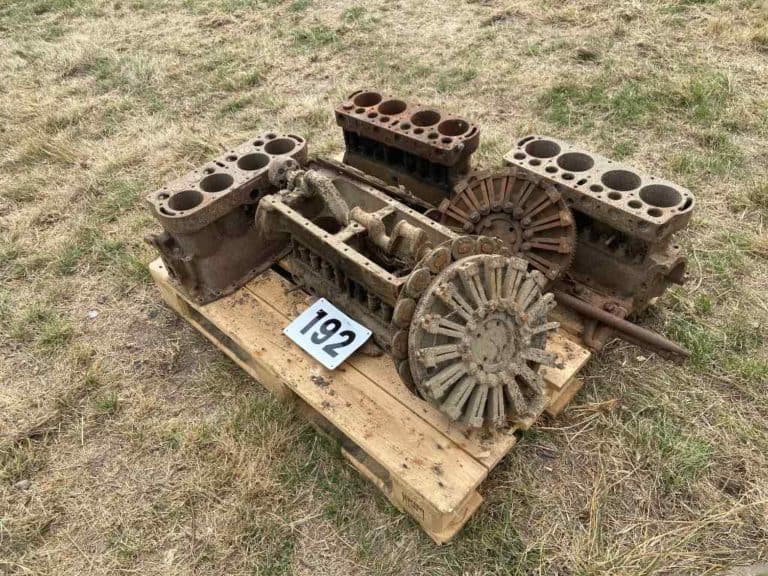
[[[545,406],[539,365],[554,308],[543,276],[521,258],[474,254],[454,261],[421,295],[408,334],[419,393],[471,428],[530,425]]]

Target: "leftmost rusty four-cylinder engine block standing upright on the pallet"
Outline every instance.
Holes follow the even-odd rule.
[[[277,190],[268,172],[279,158],[305,162],[306,141],[267,132],[147,195],[163,232],[146,241],[194,300],[233,292],[276,256],[273,246],[256,242],[253,215],[259,200]]]

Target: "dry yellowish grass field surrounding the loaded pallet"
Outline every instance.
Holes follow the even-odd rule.
[[[0,573],[718,574],[768,560],[768,3],[0,0]],[[375,86],[690,187],[691,281],[437,547],[159,302],[142,196]]]

